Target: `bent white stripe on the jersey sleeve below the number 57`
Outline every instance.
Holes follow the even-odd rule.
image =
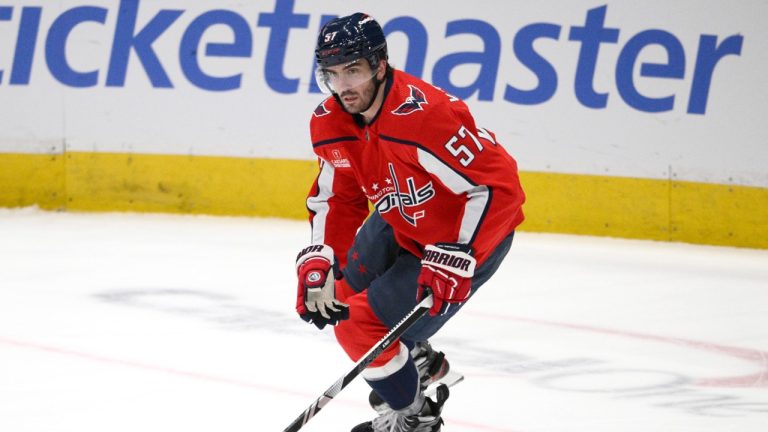
[[[487,186],[471,183],[467,178],[438,159],[432,153],[417,148],[419,163],[430,174],[446,185],[456,195],[467,194],[467,204],[464,207],[464,217],[461,220],[458,243],[469,244],[477,231],[490,202],[490,191]],[[446,239],[446,241],[448,241]]]

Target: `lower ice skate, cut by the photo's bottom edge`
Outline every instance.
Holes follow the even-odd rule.
[[[355,426],[352,432],[439,432],[443,425],[441,413],[448,396],[448,386],[441,384],[435,391],[435,400],[424,398],[418,412],[408,414],[387,409],[372,421]]]

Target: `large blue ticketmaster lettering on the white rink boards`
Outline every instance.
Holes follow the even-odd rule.
[[[46,3],[48,2],[43,2]],[[0,6],[0,31],[5,30],[5,34],[15,35],[15,41],[12,41],[15,43],[2,45],[6,50],[12,51],[2,52],[0,49],[0,59],[13,59],[8,85],[34,85],[33,66],[41,67],[39,64],[33,64],[38,40],[44,41],[43,46],[39,48],[45,52],[45,63],[50,75],[70,87],[124,87],[129,68],[141,68],[152,87],[173,88],[174,81],[178,81],[179,77],[169,76],[167,66],[168,63],[177,61],[184,79],[195,87],[207,91],[231,91],[241,88],[243,70],[238,70],[237,66],[228,68],[235,64],[229,63],[228,59],[251,58],[253,55],[253,19],[246,18],[235,10],[209,10],[192,18],[185,24],[181,39],[171,42],[171,46],[178,49],[173,55],[169,55],[167,50],[159,52],[156,43],[167,39],[166,32],[170,28],[182,25],[178,24],[178,21],[187,14],[184,9],[157,10],[154,8],[158,7],[158,2],[145,2],[140,13],[140,0],[121,0],[119,5],[110,8],[88,5],[87,0],[84,0],[79,6],[60,11],[57,6],[61,3],[55,3],[54,6]],[[71,3],[74,2],[66,2]],[[259,13],[256,19],[256,27],[269,30],[266,47],[260,48],[266,52],[265,63],[259,68],[264,71],[263,79],[267,86],[277,93],[294,94],[299,92],[300,83],[305,82],[309,83],[304,87],[305,91],[319,93],[320,90],[312,79],[314,60],[311,53],[306,56],[308,76],[302,79],[286,75],[284,66],[287,47],[297,37],[309,38],[310,43],[314,44],[314,35],[317,34],[319,26],[336,15],[322,14],[319,20],[311,20],[309,14],[294,11],[294,0],[275,0],[272,3],[259,4],[273,6],[272,11]],[[50,26],[43,28],[41,17],[52,12],[58,16]],[[104,28],[108,22],[113,22],[112,16],[115,16],[114,28]],[[137,19],[139,16],[142,17],[141,23]],[[621,101],[644,112],[670,111],[682,99],[683,103],[687,101],[687,113],[704,114],[709,90],[716,78],[716,67],[729,56],[740,56],[744,42],[744,36],[738,29],[734,29],[734,34],[726,37],[702,29],[705,33],[699,36],[698,46],[688,47],[686,52],[681,38],[668,29],[649,29],[634,35],[626,34],[626,31],[622,33],[615,24],[612,26],[608,18],[608,6],[590,9],[586,12],[583,24],[572,24],[567,34],[563,25],[550,22],[530,23],[515,29],[510,26],[497,27],[478,19],[462,19],[446,22],[443,31],[434,25],[425,25],[419,17],[399,16],[382,22],[382,25],[389,29],[390,34],[404,33],[407,36],[409,49],[405,70],[419,77],[424,75],[426,60],[436,57],[428,53],[428,48],[432,46],[432,43],[427,43],[428,40],[432,42],[439,40],[438,38],[459,35],[480,38],[485,47],[483,52],[450,52],[437,58],[431,65],[432,76],[427,79],[456,97],[477,97],[480,101],[502,98],[512,104],[537,105],[550,100],[562,81],[582,106],[592,109],[606,108],[609,97],[609,92],[596,89],[594,84],[598,73],[598,60],[601,60],[601,66],[605,63],[606,54],[601,56],[600,48],[619,44],[621,35],[623,45],[618,49],[615,65],[611,66],[614,73],[601,71],[601,75],[614,76],[615,88]],[[310,22],[318,21],[318,27],[311,32],[291,32],[294,29],[307,29]],[[9,25],[10,28],[2,28]],[[638,26],[642,28],[643,24],[638,23]],[[226,27],[231,37],[224,42],[208,42],[210,38],[204,38],[204,35],[212,27]],[[438,31],[439,34],[430,34],[427,29]],[[75,31],[90,32],[91,46],[70,43],[70,35]],[[510,31],[514,31],[514,35],[508,34]],[[691,39],[693,35],[684,35],[683,40]],[[573,56],[577,58],[575,64],[567,65],[569,70],[556,69],[554,64],[558,63],[552,62],[537,51],[537,42],[541,40],[558,41],[563,44],[562,50],[577,50],[578,56]],[[511,41],[512,45],[502,47],[502,42],[507,41]],[[163,45],[167,46],[168,42],[164,41]],[[307,43],[294,43],[291,46],[296,45],[305,46]],[[78,49],[92,50],[93,47],[104,48],[97,54],[98,66],[94,66],[94,63],[85,67],[76,65],[69,58],[72,52],[77,52]],[[666,61],[642,62],[641,52],[649,47],[662,50],[666,54]],[[508,58],[501,55],[502,48],[514,52],[512,61],[515,62],[515,68],[519,69],[522,65],[535,76],[535,86],[531,88],[529,85],[515,82],[514,78],[499,78],[499,71],[508,69],[502,68],[502,59]],[[220,63],[216,65],[218,73],[211,71],[210,65],[214,61]],[[468,77],[462,80],[462,83],[469,82],[469,85],[454,84],[451,75],[458,68],[467,69],[466,66],[477,70],[476,76],[474,79]],[[476,68],[477,66],[479,68]],[[222,73],[220,70],[230,72]],[[3,72],[6,71],[0,70],[0,84],[3,83]],[[687,90],[679,90],[676,93],[666,91],[668,94],[664,95],[652,95],[643,90],[657,80],[685,80],[687,77],[690,78]],[[739,84],[734,82],[734,77],[717,78],[733,85]],[[500,82],[501,80],[503,81]],[[503,92],[500,92],[500,89],[503,89]]]

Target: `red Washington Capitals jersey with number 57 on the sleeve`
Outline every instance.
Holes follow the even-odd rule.
[[[478,264],[523,221],[517,163],[467,105],[395,70],[366,125],[334,97],[318,105],[310,132],[320,173],[307,198],[312,243],[343,266],[368,202],[416,256],[438,242],[469,244]]]

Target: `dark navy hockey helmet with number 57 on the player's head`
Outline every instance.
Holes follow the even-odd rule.
[[[349,63],[365,58],[375,69],[387,59],[384,31],[372,16],[357,12],[336,18],[320,30],[315,59],[320,67]]]

